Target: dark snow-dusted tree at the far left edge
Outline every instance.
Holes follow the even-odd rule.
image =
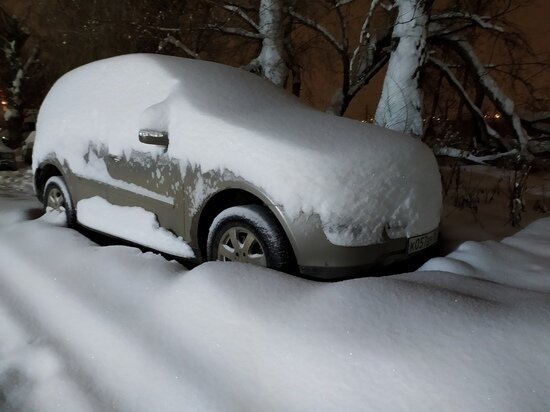
[[[26,86],[38,63],[38,48],[26,47],[29,36],[23,22],[0,7],[0,87],[7,101],[8,144],[13,147],[22,142]]]

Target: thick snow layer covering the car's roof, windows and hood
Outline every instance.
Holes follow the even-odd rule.
[[[441,190],[431,151],[408,136],[315,111],[265,80],[215,63],[129,55],[59,80],[38,117],[33,167],[56,152],[79,174],[90,142],[113,155],[161,149],[138,130],[168,131],[168,155],[203,173],[229,169],[291,217],[317,213],[327,237],[363,245],[427,233]],[[92,161],[92,160],[90,160]]]

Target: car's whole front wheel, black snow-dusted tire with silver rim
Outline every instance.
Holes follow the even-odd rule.
[[[286,271],[291,256],[285,233],[264,206],[226,209],[214,219],[208,232],[209,261],[236,261]]]

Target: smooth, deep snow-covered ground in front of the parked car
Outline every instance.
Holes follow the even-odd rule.
[[[2,412],[550,410],[548,215],[317,283],[100,247],[31,220],[25,173],[0,175]]]

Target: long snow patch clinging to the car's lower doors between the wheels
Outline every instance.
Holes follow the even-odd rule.
[[[112,205],[96,196],[77,204],[78,222],[108,235],[184,258],[194,258],[191,247],[159,226],[156,216],[141,207]]]

